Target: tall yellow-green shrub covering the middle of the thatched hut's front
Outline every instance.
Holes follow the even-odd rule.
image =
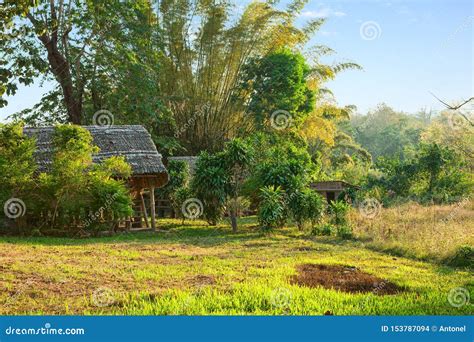
[[[112,157],[93,165],[92,155],[98,148],[86,129],[74,125],[59,125],[53,135],[54,158],[51,170],[39,177],[43,189],[40,212],[61,214],[57,222],[52,215],[46,220],[51,229],[65,226],[75,216],[84,221],[92,233],[113,226],[118,218],[132,214],[131,198],[124,181],[131,167],[123,157]]]

